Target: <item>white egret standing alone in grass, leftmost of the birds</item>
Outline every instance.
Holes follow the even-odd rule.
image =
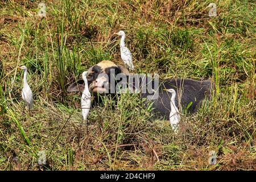
[[[24,103],[27,105],[27,109],[30,111],[33,107],[33,94],[30,89],[30,86],[27,84],[27,67],[22,66],[19,68],[24,70],[22,99]]]

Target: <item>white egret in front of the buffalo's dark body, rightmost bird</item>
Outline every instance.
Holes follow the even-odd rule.
[[[170,123],[172,126],[172,129],[176,131],[177,125],[179,124],[180,121],[180,114],[179,114],[179,109],[177,109],[177,106],[175,105],[175,97],[176,97],[176,92],[174,89],[164,89],[167,92],[170,92],[172,94],[171,97],[171,112],[170,112]]]

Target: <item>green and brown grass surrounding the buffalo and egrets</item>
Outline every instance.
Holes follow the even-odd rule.
[[[218,16],[209,18],[209,3],[51,1],[40,20],[38,2],[0,2],[0,169],[255,170],[256,6],[217,1]],[[177,135],[136,94],[117,104],[104,98],[81,125],[80,94],[67,86],[102,60],[123,64],[119,30],[135,73],[215,81],[213,99],[184,114]],[[23,113],[20,65],[35,95],[31,116]],[[47,164],[39,166],[42,150]]]

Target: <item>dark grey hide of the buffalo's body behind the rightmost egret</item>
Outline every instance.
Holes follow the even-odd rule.
[[[175,104],[179,107],[180,112],[182,108],[183,112],[195,113],[203,100],[210,99],[213,88],[211,80],[197,81],[187,78],[170,78],[159,81],[159,97],[157,100],[152,100],[152,107],[155,108],[153,111],[157,115],[169,118],[172,94],[163,89],[174,89],[176,91]],[[147,95],[142,94],[141,96],[147,97]]]

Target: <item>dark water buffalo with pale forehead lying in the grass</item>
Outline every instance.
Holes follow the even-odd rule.
[[[97,94],[116,94],[117,85],[127,84],[134,85],[134,75],[129,74],[129,71],[121,65],[116,65],[112,61],[101,61],[88,69],[88,84],[89,90]],[[121,75],[121,76],[120,76]],[[121,79],[120,79],[121,77]],[[123,79],[123,78],[126,79]],[[171,93],[164,89],[175,89],[176,104],[179,108],[186,110],[188,113],[195,113],[200,107],[201,101],[210,98],[210,94],[214,88],[213,82],[209,80],[197,81],[188,78],[168,78],[165,80],[151,79],[145,76],[146,82],[139,79],[139,88],[150,83],[150,88],[146,88],[146,92],[141,92],[142,98],[148,98],[152,101],[152,111],[156,116],[169,117],[171,110]],[[113,81],[114,80],[114,81]],[[129,81],[129,83],[128,83]],[[157,82],[156,82],[157,81]],[[114,82],[114,84],[113,84]],[[68,92],[75,92],[84,90],[84,81],[78,80],[68,86]],[[110,92],[110,90],[114,90]],[[148,97],[151,96],[151,97]]]

